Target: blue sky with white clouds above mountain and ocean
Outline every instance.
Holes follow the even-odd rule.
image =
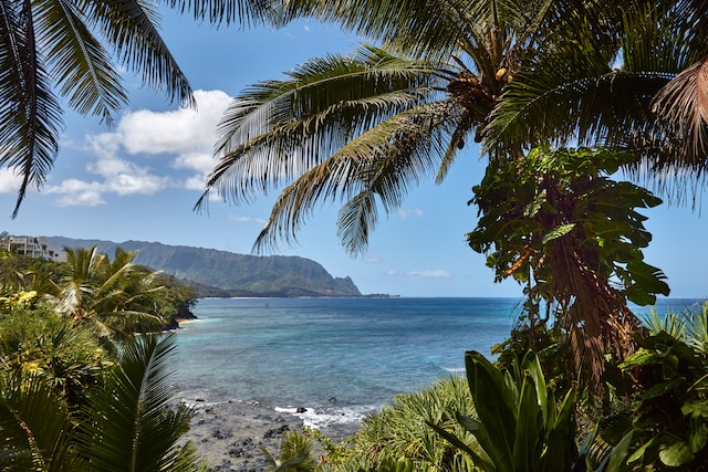
[[[127,240],[251,253],[275,195],[248,206],[212,201],[192,210],[204,191],[215,129],[229,97],[313,56],[348,53],[357,40],[334,27],[301,21],[284,29],[215,29],[163,11],[162,32],[189,78],[198,111],[169,103],[164,93],[126,73],[129,105],[108,127],[94,117],[64,114],[61,150],[45,186],[25,197],[11,218],[19,181],[0,170],[0,230],[15,235]],[[335,206],[319,207],[280,255],[312,259],[332,275],[351,276],[364,294],[402,296],[521,296],[512,281],[493,283],[486,256],[465,234],[477,223],[467,204],[485,159],[467,146],[441,185],[433,178],[413,188],[402,208],[381,220],[368,250],[347,255],[336,238]],[[704,192],[705,193],[705,192]],[[671,296],[704,297],[708,282],[708,221],[699,209],[668,206],[644,210],[654,240],[645,260],[667,275]]]

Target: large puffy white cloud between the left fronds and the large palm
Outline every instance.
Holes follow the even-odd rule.
[[[70,179],[46,191],[63,196],[60,204],[95,206],[105,203],[107,193],[155,195],[174,187],[204,190],[206,176],[216,164],[212,157],[216,127],[230,98],[221,91],[195,91],[195,99],[197,109],[127,112],[114,132],[85,136],[82,148],[95,157],[86,170],[101,180]],[[170,159],[168,165],[157,165],[164,169],[159,175],[154,168],[138,164],[138,159],[158,155]],[[169,175],[170,168],[194,174],[178,178]]]

